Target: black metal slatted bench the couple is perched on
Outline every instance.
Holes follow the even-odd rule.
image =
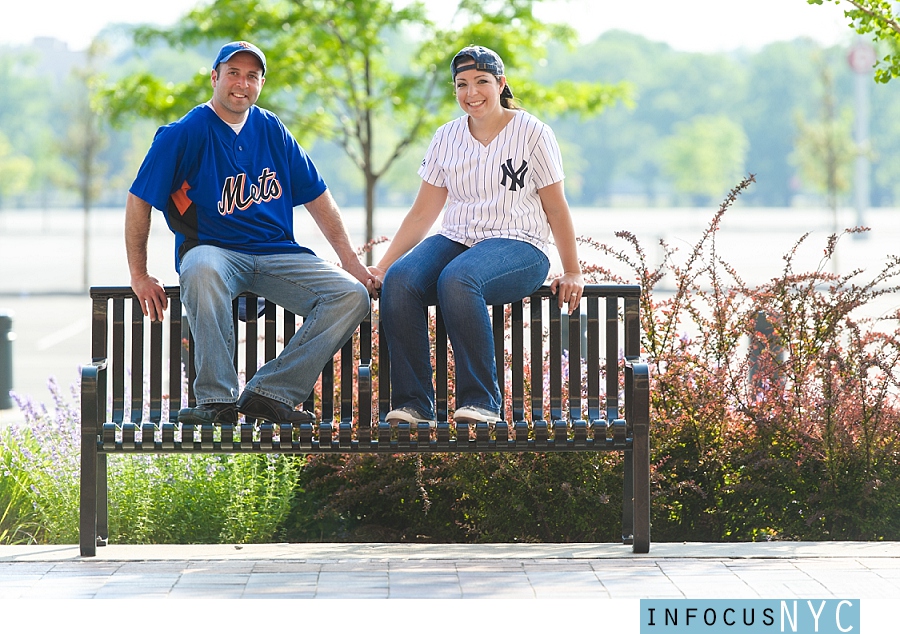
[[[324,368],[321,388],[305,404],[308,410],[320,410],[322,422],[291,428],[251,419],[234,428],[198,429],[179,423],[182,393],[188,403],[194,402],[193,357],[179,289],[169,287],[166,292],[169,309],[160,323],[144,317],[128,287],[91,289],[92,362],[81,371],[83,556],[96,555],[97,546],[105,545],[108,537],[108,455],[208,452],[621,451],[625,465],[622,542],[631,544],[635,553],[649,551],[650,396],[648,368],[639,356],[639,286],[588,285],[581,314],[576,311],[571,317],[560,314],[547,287],[524,302],[493,307],[497,374],[506,378],[504,389],[511,392],[511,409],[503,412],[508,422],[494,428],[484,424],[468,429],[448,423],[448,343],[436,311],[437,429],[400,425],[393,433],[384,422],[390,410],[387,346],[377,347],[375,385],[373,338],[378,332],[377,326],[373,331],[371,316]],[[256,306],[257,298],[246,296],[246,305]],[[252,316],[255,311],[249,312]],[[297,319],[270,302],[258,319],[245,323],[239,321],[238,313],[235,300],[240,345],[234,362],[249,379],[261,362],[274,358],[290,339]],[[563,351],[566,330],[567,355]],[[549,359],[548,377],[544,376],[545,359]],[[541,380],[527,382],[526,367]],[[582,382],[583,370],[586,379]],[[545,390],[545,379],[549,379],[549,390]]]

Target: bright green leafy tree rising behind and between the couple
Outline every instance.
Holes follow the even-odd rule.
[[[170,29],[139,30],[136,40],[174,47],[235,39],[259,45],[269,62],[260,104],[274,110],[301,143],[323,139],[343,148],[363,177],[369,241],[378,180],[450,116],[449,62],[463,46],[495,49],[517,93],[528,95],[538,112],[587,116],[627,98],[624,83],[548,86],[528,77],[548,43],[574,42],[571,27],[535,18],[537,1],[461,0],[448,26],[434,24],[421,2],[215,0]],[[181,83],[142,71],[116,83],[104,99],[114,121],[132,115],[166,121],[208,93],[209,69]]]

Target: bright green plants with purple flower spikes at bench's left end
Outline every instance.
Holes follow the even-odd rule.
[[[19,400],[25,423],[0,433],[0,543],[78,542],[78,394],[51,382],[55,415]],[[252,543],[279,538],[303,457],[108,457],[115,543]]]

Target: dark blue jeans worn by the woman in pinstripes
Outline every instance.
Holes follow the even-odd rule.
[[[488,304],[526,297],[550,262],[520,240],[491,238],[466,247],[441,235],[423,240],[388,269],[380,319],[391,359],[392,407],[434,418],[428,306],[439,305],[456,363],[456,406],[499,413],[500,386]]]

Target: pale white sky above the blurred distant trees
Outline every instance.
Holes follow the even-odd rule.
[[[111,23],[175,22],[202,0],[24,0],[10,2],[0,20],[0,45],[51,36],[83,49]],[[453,3],[427,0],[435,19]],[[569,22],[582,41],[610,29],[638,33],[674,49],[694,52],[757,50],[775,41],[808,36],[822,44],[848,42],[853,32],[842,5],[806,0],[557,0],[540,7],[547,21]]]

